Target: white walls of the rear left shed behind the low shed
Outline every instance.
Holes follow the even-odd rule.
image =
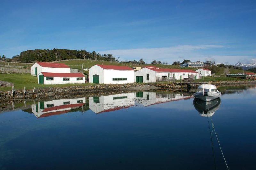
[[[50,68],[50,67],[41,67],[39,64],[35,63],[30,68],[30,74],[35,75],[36,73],[36,67],[37,67],[37,76],[41,72],[47,72],[47,73],[70,73],[70,68]]]

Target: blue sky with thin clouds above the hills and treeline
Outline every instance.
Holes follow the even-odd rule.
[[[256,1],[0,1],[0,55],[85,49],[121,60],[256,62]]]

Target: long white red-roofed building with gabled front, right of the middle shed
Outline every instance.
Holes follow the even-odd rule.
[[[155,66],[146,66],[139,71],[135,72],[134,81],[152,83],[156,82],[157,77],[162,77],[166,79],[184,79],[188,78],[189,75],[193,75],[195,79],[199,79],[199,73],[193,70],[185,69],[170,69],[170,68],[159,68]]]

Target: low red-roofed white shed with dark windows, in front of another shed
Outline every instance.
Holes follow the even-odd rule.
[[[46,73],[38,76],[38,84],[82,84],[85,76],[81,73]]]

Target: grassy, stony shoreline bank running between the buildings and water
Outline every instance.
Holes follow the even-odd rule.
[[[40,85],[37,84],[37,78],[30,74],[2,74],[2,81],[14,83],[14,98],[24,98],[24,87],[26,87],[26,99],[43,99],[43,98],[67,98],[70,96],[79,95],[100,95],[109,92],[127,92],[127,91],[144,91],[152,89],[169,89],[169,90],[189,90],[197,89],[203,83],[214,84],[217,86],[233,85],[233,84],[254,84],[255,80],[237,79],[230,77],[204,77],[191,83],[182,83],[178,80],[177,83],[131,83],[131,84],[64,84],[64,85]],[[33,89],[35,87],[35,91]],[[11,98],[12,87],[0,88],[0,99]]]

